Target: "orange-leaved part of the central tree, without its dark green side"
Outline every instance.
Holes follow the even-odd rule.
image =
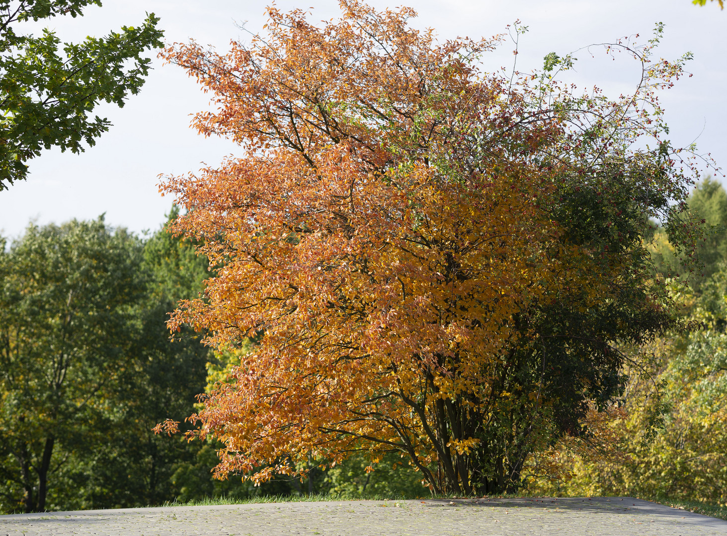
[[[169,326],[218,349],[264,334],[191,420],[225,444],[220,477],[398,450],[433,490],[471,492],[497,481],[482,430],[498,412],[526,415],[508,433],[544,449],[554,433],[537,385],[503,379],[534,336],[517,315],[584,280],[584,308],[610,288],[544,210],[562,169],[537,159],[563,121],[475,68],[497,39],[438,44],[411,9],[342,10],[318,28],[269,8],[248,47],[164,52],[220,107],[196,128],[244,150],[162,184],[217,267]]]

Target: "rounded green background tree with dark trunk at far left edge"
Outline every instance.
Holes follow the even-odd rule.
[[[4,509],[44,511],[58,450],[112,408],[144,291],[142,245],[103,218],[31,224],[0,252],[0,471]]]

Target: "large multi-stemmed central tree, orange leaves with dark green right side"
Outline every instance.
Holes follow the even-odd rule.
[[[341,8],[322,27],[269,8],[267,34],[228,54],[164,52],[219,106],[198,131],[241,147],[162,184],[217,267],[170,328],[220,351],[262,334],[196,434],[224,444],[221,478],[398,452],[435,492],[516,490],[564,436],[603,447],[589,412],[640,344],[679,327],[643,238],[659,217],[694,245],[676,223],[690,168],[654,102],[682,62],[652,58],[660,27],[611,44],[643,67],[612,101],[557,81],[571,57],[482,73],[498,38],[440,44],[411,9]]]

